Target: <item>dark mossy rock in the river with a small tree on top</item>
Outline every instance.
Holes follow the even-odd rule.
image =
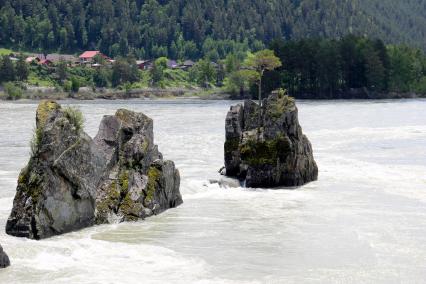
[[[300,186],[318,177],[294,99],[274,93],[262,107],[247,100],[226,117],[226,175],[247,187]]]

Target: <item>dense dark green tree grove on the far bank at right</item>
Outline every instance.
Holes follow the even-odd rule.
[[[265,92],[282,87],[303,98],[344,97],[360,89],[426,93],[426,57],[419,49],[356,36],[275,40],[270,48],[282,66],[265,74]]]

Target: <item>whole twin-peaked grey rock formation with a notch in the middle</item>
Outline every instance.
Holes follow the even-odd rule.
[[[181,203],[179,172],[162,160],[150,118],[118,110],[104,117],[92,140],[81,113],[46,101],[37,109],[32,155],[19,175],[6,232],[40,239]]]

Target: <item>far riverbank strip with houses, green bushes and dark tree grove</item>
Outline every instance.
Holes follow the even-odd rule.
[[[407,46],[349,35],[339,40],[273,40],[269,49],[176,61],[28,54],[2,49],[0,99],[253,99],[284,89],[296,99],[426,97],[426,55]],[[259,69],[253,58],[280,62]],[[260,75],[261,74],[261,75]],[[259,78],[260,76],[260,78]]]

